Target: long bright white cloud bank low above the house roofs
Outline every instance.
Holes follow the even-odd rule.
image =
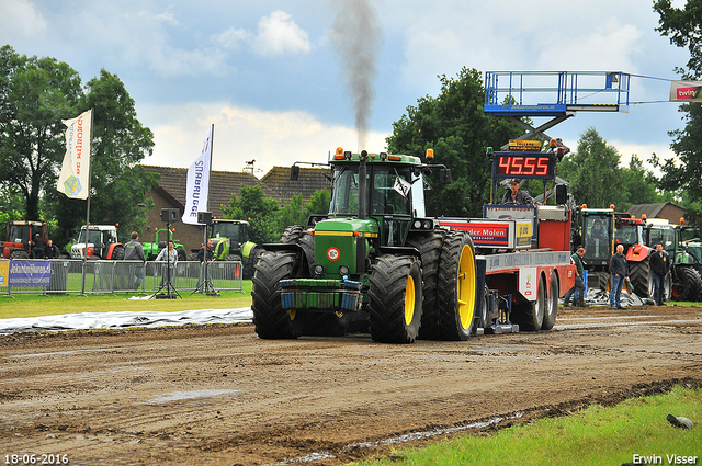
[[[260,177],[274,166],[324,163],[339,146],[358,151],[355,129],[326,124],[303,111],[264,112],[228,103],[146,105],[139,109],[139,121],[154,132],[154,156],[145,164],[189,167],[211,124],[214,170],[241,171],[247,160],[256,159]],[[382,151],[385,137],[371,133],[367,150]]]

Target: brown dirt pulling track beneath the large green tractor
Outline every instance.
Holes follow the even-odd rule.
[[[0,455],[337,465],[389,452],[363,442],[702,386],[701,336],[702,309],[668,306],[561,308],[551,332],[412,345],[248,325],[0,337]]]

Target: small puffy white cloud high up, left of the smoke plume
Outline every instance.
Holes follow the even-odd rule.
[[[263,56],[285,53],[308,53],[309,34],[292,20],[284,11],[274,11],[259,21],[258,35],[253,39],[253,49]]]

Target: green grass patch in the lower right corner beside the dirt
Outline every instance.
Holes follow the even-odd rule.
[[[489,435],[462,435],[422,448],[398,448],[364,466],[619,466],[626,463],[702,465],[702,425],[673,428],[667,414],[702,420],[702,390],[599,405],[566,418],[540,419]],[[635,457],[638,455],[638,457]],[[686,463],[676,463],[677,461]],[[695,458],[697,457],[697,458]]]

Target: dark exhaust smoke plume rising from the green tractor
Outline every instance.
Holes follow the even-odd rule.
[[[335,49],[341,59],[341,76],[353,98],[358,149],[367,149],[371,103],[375,99],[377,54],[383,45],[377,12],[371,0],[335,0],[339,10],[331,29]]]

